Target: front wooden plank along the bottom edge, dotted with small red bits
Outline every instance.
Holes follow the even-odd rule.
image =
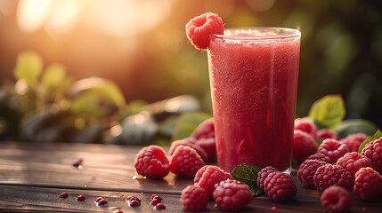
[[[69,194],[68,199],[59,198],[60,193]],[[78,194],[86,197],[85,201],[76,201]],[[158,193],[163,198],[166,205],[164,212],[183,212],[179,201],[179,194]],[[139,207],[131,208],[126,203],[129,195],[138,196],[142,200]],[[152,193],[129,193],[95,190],[70,190],[47,187],[30,186],[0,186],[0,211],[42,211],[42,212],[112,212],[115,208],[120,208],[124,212],[158,212],[150,205]],[[108,207],[97,207],[93,202],[96,197],[102,196],[109,205]],[[378,201],[364,202],[357,198],[349,212],[380,212],[381,203]],[[274,209],[275,208],[275,209]],[[367,209],[364,209],[367,208]],[[208,212],[224,212],[215,207],[214,201],[208,201]],[[321,202],[317,196],[299,190],[296,201],[289,203],[274,203],[266,196],[259,196],[248,205],[247,209],[240,212],[328,212],[321,207]]]

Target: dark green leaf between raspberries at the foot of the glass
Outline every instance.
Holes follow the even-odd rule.
[[[257,174],[260,170],[262,170],[261,167],[243,163],[235,167],[231,175],[234,179],[237,179],[248,185],[252,194],[257,196],[263,193],[261,189],[256,185]]]

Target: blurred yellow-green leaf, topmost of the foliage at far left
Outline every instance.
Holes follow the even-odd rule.
[[[13,73],[17,80],[25,80],[29,86],[37,83],[43,68],[43,59],[35,51],[23,51],[17,57]]]

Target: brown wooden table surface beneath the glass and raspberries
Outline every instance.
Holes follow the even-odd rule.
[[[179,198],[192,179],[177,178],[170,173],[163,180],[137,177],[133,162],[142,146],[89,144],[37,144],[0,142],[0,211],[2,212],[158,212],[150,205],[153,193],[163,198],[163,212],[182,212]],[[72,163],[82,158],[83,168]],[[297,197],[289,203],[274,203],[258,196],[240,212],[328,212],[321,207],[320,193],[297,184]],[[68,199],[59,198],[60,193]],[[78,194],[85,201],[76,201]],[[142,199],[131,208],[125,199],[135,195]],[[108,207],[97,207],[96,197],[109,201]],[[160,212],[159,211],[159,212]],[[204,212],[223,212],[209,201]],[[361,201],[353,196],[350,212],[382,212],[381,201]]]

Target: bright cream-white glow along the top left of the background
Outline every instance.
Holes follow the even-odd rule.
[[[43,26],[51,36],[85,24],[109,36],[134,36],[147,32],[167,18],[170,0],[21,0],[19,28],[32,33]]]

